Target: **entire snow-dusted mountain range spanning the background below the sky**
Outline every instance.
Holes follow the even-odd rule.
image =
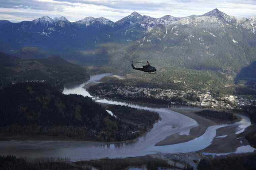
[[[69,22],[63,16],[43,16],[20,23],[1,20],[0,51],[22,58],[60,54],[67,60],[124,70],[129,66],[123,61],[134,59],[156,62],[157,67],[232,74],[256,60],[255,29],[256,16],[235,18],[218,9],[161,18],[133,12],[117,22],[104,17]]]

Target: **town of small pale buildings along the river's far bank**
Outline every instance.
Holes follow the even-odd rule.
[[[256,105],[256,101],[243,96],[225,95],[222,97],[214,96],[210,91],[195,90],[172,90],[161,88],[142,88],[135,86],[118,86],[111,85],[109,89],[98,88],[98,94],[106,94],[109,96],[124,96],[130,98],[136,97],[154,97],[157,99],[168,100],[172,97],[181,97],[186,103],[170,102],[170,104],[186,104],[195,107],[216,108],[216,109],[239,109],[246,105]],[[193,94],[198,97],[199,101],[191,101],[186,96]]]

